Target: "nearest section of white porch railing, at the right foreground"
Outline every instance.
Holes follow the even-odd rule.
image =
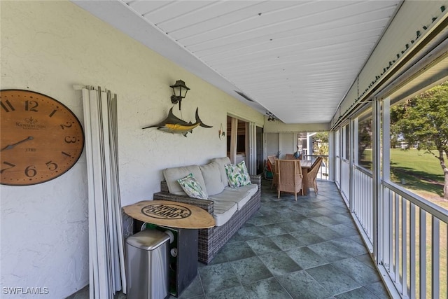
[[[448,212],[382,182],[379,263],[403,298],[447,298]]]

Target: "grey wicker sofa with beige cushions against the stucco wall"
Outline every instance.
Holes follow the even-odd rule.
[[[200,229],[198,234],[198,260],[205,264],[210,263],[219,249],[260,208],[261,176],[251,175],[251,186],[230,188],[224,169],[226,164],[230,164],[227,157],[213,159],[208,165],[165,169],[163,171],[165,180],[160,183],[161,191],[153,195],[154,200],[193,204],[214,216],[216,226]],[[216,171],[219,174],[216,174]],[[181,179],[190,173],[193,173],[197,181],[207,190],[209,194],[207,200],[189,197],[180,190],[180,186],[176,186],[176,178]],[[223,183],[223,190],[220,193],[216,193],[221,190],[221,186],[216,187],[218,176]],[[215,179],[211,181],[213,177]]]

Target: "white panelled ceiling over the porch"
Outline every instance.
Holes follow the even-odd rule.
[[[330,122],[400,4],[398,0],[73,2],[260,112],[271,111],[284,123]]]

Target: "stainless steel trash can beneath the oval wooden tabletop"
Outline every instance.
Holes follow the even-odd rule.
[[[169,235],[142,230],[126,239],[127,298],[167,298]]]

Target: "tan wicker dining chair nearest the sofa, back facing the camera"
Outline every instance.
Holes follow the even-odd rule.
[[[278,172],[278,198],[280,198],[281,192],[293,193],[297,201],[297,193],[302,191],[303,179],[300,160],[276,160],[276,169]]]

